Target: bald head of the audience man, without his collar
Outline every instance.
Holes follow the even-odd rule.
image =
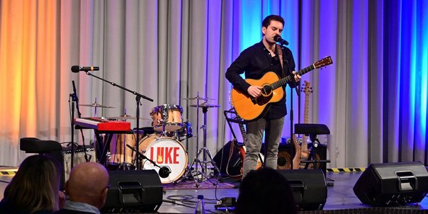
[[[75,166],[65,184],[70,201],[87,203],[101,209],[106,203],[108,172],[96,162],[84,162]]]

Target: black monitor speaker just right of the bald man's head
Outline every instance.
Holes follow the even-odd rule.
[[[162,204],[162,184],[151,170],[108,171],[110,188],[103,212],[155,213]]]

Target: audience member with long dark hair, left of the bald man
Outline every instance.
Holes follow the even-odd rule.
[[[64,202],[60,192],[61,164],[45,155],[24,159],[11,183],[4,190],[0,213],[52,213]]]

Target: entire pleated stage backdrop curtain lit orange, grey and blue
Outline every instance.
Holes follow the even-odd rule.
[[[231,89],[225,70],[261,40],[261,21],[271,13],[286,20],[282,37],[290,42],[297,69],[325,56],[333,59],[332,66],[303,76],[312,85],[309,123],[331,131],[318,136],[327,145],[330,167],[427,164],[426,1],[0,2],[0,165],[15,166],[26,157],[18,150],[20,137],[70,140],[72,80],[80,103],[97,99],[116,107],[98,109],[98,116],[119,116],[125,109],[135,116],[135,96],[72,74],[74,64],[99,66],[95,75],[153,98],[142,101],[141,117],[148,120],[141,126],[150,126],[154,106],[182,106],[183,120],[193,124],[193,135],[199,132],[198,148],[202,111],[197,120],[190,106],[195,101],[183,98],[213,98],[210,103],[221,106],[207,113],[206,145],[214,155],[232,139],[223,117]],[[305,94],[286,93],[289,110],[293,94],[293,123],[303,122]],[[94,116],[92,108],[81,112]],[[290,136],[289,115],[283,137]],[[89,142],[93,133],[85,135]],[[189,161],[196,142],[182,142]]]

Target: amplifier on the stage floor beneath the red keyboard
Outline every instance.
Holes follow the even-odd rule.
[[[72,170],[72,147],[62,148],[62,154],[64,155],[64,179],[67,181]],[[86,154],[89,162],[96,162],[94,147],[86,147]],[[81,146],[74,147],[74,166],[83,162],[86,162],[84,149]]]

